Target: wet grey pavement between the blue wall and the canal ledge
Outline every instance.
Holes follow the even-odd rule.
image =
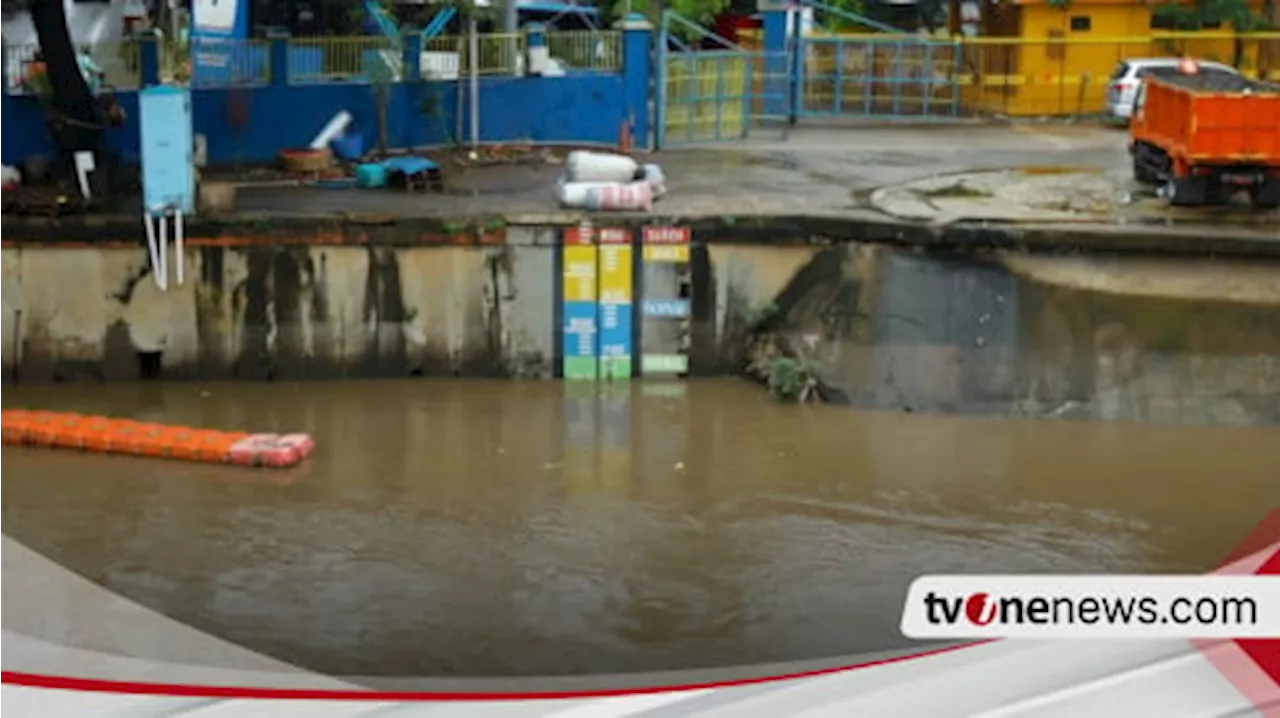
[[[1169,234],[1212,229],[1251,241],[1280,239],[1280,212],[1242,202],[1167,206],[1153,189],[1133,182],[1128,133],[1112,127],[801,128],[666,150],[645,160],[660,164],[667,177],[669,193],[648,212],[664,218],[1076,223],[1080,232],[1156,225]],[[264,218],[502,215],[516,224],[576,223],[586,214],[561,209],[553,196],[561,169],[445,163],[445,191],[436,195],[264,184],[242,188],[236,211]],[[644,212],[613,216],[637,215]]]

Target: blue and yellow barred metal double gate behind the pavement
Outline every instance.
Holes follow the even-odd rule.
[[[815,28],[791,33],[783,49],[748,50],[663,13],[658,146],[741,140],[759,127],[788,128],[805,119],[913,122],[960,114],[957,42],[910,35],[813,0],[803,5],[873,32]],[[681,37],[716,49],[698,50]]]

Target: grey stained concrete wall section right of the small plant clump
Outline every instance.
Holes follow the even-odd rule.
[[[804,255],[785,256],[755,261]],[[1197,264],[842,244],[763,293],[778,306],[769,331],[858,406],[1280,424],[1280,264],[1221,260],[1216,291],[1194,279]],[[744,296],[728,306],[764,298],[723,283]]]

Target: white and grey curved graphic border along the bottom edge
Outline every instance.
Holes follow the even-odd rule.
[[[1256,572],[1280,543],[1224,567],[1224,573]],[[106,591],[56,567],[19,544],[0,538],[5,575],[23,576],[15,590],[4,582],[0,599],[36,591],[47,600],[52,590],[60,605],[76,605],[76,616],[90,623],[110,617],[136,622],[133,635],[155,640],[159,635],[188,641],[188,650],[201,663],[228,666],[225,671],[157,662],[142,655],[109,655],[102,651],[65,648],[23,636],[10,630],[13,610],[5,616],[4,668],[31,673],[110,676],[119,681],[195,682],[202,685],[356,689],[349,682],[305,673],[287,664],[252,654]],[[28,581],[26,578],[44,577]],[[56,586],[56,587],[55,587]],[[79,598],[67,603],[68,591]],[[29,595],[27,599],[29,600]],[[4,600],[8,608],[14,608]],[[29,605],[29,604],[28,604]],[[44,605],[49,605],[45,603]],[[114,608],[110,608],[114,607]],[[27,609],[29,610],[29,609]],[[104,613],[106,612],[106,613]],[[150,641],[143,641],[150,642]],[[188,654],[191,655],[191,654]],[[0,687],[0,714],[41,717],[86,715],[220,715],[339,717],[339,715],[467,715],[467,717],[561,717],[609,718],[627,715],[686,715],[698,718],[773,718],[799,715],[856,715],[891,718],[947,717],[1046,717],[1046,718],[1135,718],[1179,715],[1251,717],[1275,715],[1280,708],[1280,685],[1256,671],[1251,695],[1238,686],[1240,676],[1228,680],[1221,666],[1236,666],[1243,654],[1231,641],[1193,645],[1189,641],[995,641],[927,655],[844,671],[826,676],[746,686],[682,690],[664,694],[602,699],[475,703],[394,703],[187,699],[90,694],[61,690]],[[1247,663],[1245,663],[1247,664]],[[234,668],[232,668],[234,667]],[[1257,678],[1261,677],[1261,682]],[[696,680],[696,677],[691,677]],[[1245,676],[1245,680],[1249,677]],[[1235,685],[1233,685],[1233,681]],[[358,689],[357,689],[358,690]],[[1261,705],[1272,704],[1270,710]]]

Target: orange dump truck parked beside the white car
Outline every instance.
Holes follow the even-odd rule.
[[[1134,105],[1129,152],[1138,182],[1176,206],[1247,191],[1280,207],[1280,84],[1225,73],[1151,78]]]

